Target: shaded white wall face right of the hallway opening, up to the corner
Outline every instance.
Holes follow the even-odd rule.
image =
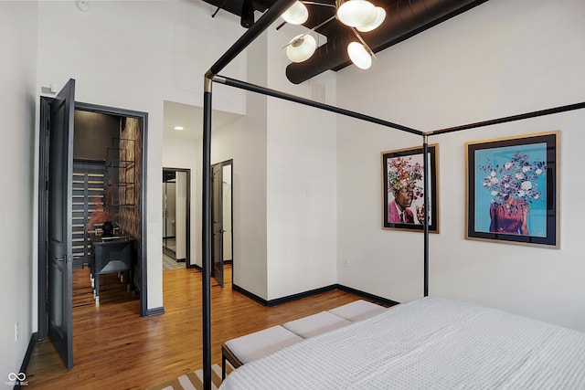
[[[266,36],[262,35],[248,47],[250,63],[244,78],[260,85],[266,82],[265,46]],[[214,101],[233,92],[229,88],[216,89],[216,85]],[[246,116],[224,128],[213,129],[211,163],[233,159],[233,283],[266,299],[267,103],[266,97],[253,93],[248,94],[247,102]],[[200,237],[200,222],[197,227]]]

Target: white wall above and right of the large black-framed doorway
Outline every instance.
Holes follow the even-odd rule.
[[[146,192],[149,309],[163,306],[161,167],[164,100],[201,105],[203,75],[242,33],[227,13],[181,1],[39,2],[40,85],[76,79],[76,100],[148,112]],[[245,58],[245,56],[244,56]],[[242,65],[243,64],[243,65]],[[245,74],[245,61],[226,74]],[[245,110],[241,93],[218,99],[224,111]],[[153,239],[154,238],[154,239]]]

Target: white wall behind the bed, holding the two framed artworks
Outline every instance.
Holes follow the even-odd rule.
[[[585,98],[585,4],[493,0],[337,75],[341,106],[431,131]],[[357,98],[357,99],[356,99]],[[431,137],[439,147],[441,233],[431,235],[430,293],[585,331],[580,181],[585,111]],[[338,281],[392,300],[422,295],[422,235],[382,230],[379,153],[418,136],[340,119]],[[356,128],[359,132],[356,132]],[[464,239],[464,144],[561,131],[561,248]],[[356,206],[359,205],[359,206]],[[349,262],[344,266],[344,260]]]

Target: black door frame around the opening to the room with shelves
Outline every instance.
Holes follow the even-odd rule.
[[[39,121],[39,150],[38,150],[38,329],[37,338],[44,339],[48,335],[48,156],[49,156],[49,104],[54,98],[40,97]],[[141,172],[140,172],[140,315],[150,315],[148,312],[148,278],[147,278],[147,246],[146,246],[146,177],[147,177],[147,140],[148,140],[148,113],[143,111],[124,110],[106,107],[97,104],[75,102],[75,111],[90,111],[126,118],[135,118],[140,121],[141,131]],[[73,129],[71,129],[73,131]]]

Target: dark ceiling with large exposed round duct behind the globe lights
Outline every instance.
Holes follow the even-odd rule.
[[[244,5],[253,6],[256,14],[263,13],[277,0],[203,0],[217,6],[217,12],[229,12],[240,17],[240,21],[250,23],[250,11]],[[457,16],[487,0],[370,0],[374,5],[386,10],[386,19],[374,31],[361,33],[368,47],[374,53],[412,37],[431,26],[435,26],[452,16]],[[335,0],[311,0],[302,2],[309,10],[309,18],[303,24],[308,29],[319,26],[335,15]],[[321,5],[315,5],[315,3]],[[248,8],[249,9],[249,8]],[[242,17],[243,12],[243,17]],[[243,23],[245,24],[245,23]],[[339,70],[351,64],[346,47],[356,37],[352,30],[335,18],[324,26],[316,28],[319,34],[327,37],[327,42],[317,47],[312,58],[293,63],[286,69],[287,78],[295,83],[323,73],[325,70]]]

